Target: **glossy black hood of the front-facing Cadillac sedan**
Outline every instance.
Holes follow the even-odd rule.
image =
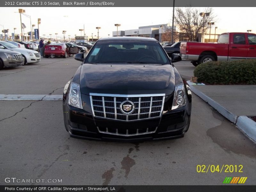
[[[160,94],[174,91],[172,65],[83,64],[81,93]]]

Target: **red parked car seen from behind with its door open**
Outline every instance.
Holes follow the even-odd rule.
[[[67,58],[67,56],[73,56],[78,53],[77,47],[69,47],[65,43],[49,44],[45,46],[44,56],[49,58],[50,56],[61,56]]]

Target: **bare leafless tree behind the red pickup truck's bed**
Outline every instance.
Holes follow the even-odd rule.
[[[201,17],[200,12],[209,14]],[[179,28],[179,32],[185,35],[189,41],[195,41],[199,38],[200,34],[205,34],[210,28],[208,22],[216,22],[216,16],[213,14],[211,7],[208,7],[203,11],[199,11],[192,7],[177,7],[175,9],[174,23]]]

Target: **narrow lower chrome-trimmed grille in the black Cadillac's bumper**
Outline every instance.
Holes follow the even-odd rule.
[[[108,128],[108,127],[97,127],[100,133],[106,133],[110,135],[120,136],[135,136],[144,135],[156,132],[157,127],[151,128],[139,128],[139,129],[122,129],[122,128]]]

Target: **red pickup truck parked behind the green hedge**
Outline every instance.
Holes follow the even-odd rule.
[[[256,34],[222,33],[217,44],[184,42],[180,53],[194,66],[209,61],[256,59]]]

